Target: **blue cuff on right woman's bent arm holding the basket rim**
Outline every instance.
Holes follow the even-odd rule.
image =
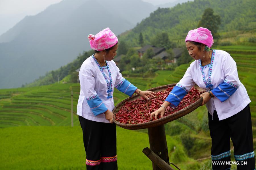
[[[218,85],[212,90],[212,94],[219,99],[219,101],[226,101],[232,94],[236,92],[239,86],[235,84],[230,84],[229,81],[224,81],[222,84]]]

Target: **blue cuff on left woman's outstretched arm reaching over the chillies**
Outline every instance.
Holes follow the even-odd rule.
[[[137,90],[137,87],[135,87],[133,84],[131,84],[128,80],[122,79],[121,82],[115,86],[117,90],[120,92],[123,92],[126,95],[129,95],[130,97],[134,94],[134,92]]]

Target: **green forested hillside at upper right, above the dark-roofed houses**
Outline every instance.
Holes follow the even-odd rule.
[[[172,8],[158,8],[150,16],[125,33],[120,40],[132,46],[139,46],[138,37],[142,33],[144,43],[158,33],[166,32],[171,41],[184,46],[189,30],[196,29],[204,10],[212,8],[219,14],[221,25],[219,32],[256,30],[256,3],[254,0],[195,0],[177,4]]]

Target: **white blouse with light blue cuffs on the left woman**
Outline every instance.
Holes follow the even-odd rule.
[[[80,95],[77,114],[88,120],[109,123],[102,114],[114,108],[113,89],[132,96],[137,90],[133,84],[123,78],[114,61],[106,61],[100,67],[94,56],[87,58],[79,71]]]

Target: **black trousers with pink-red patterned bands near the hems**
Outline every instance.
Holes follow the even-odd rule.
[[[87,170],[116,170],[115,124],[94,122],[79,116],[83,131]]]

